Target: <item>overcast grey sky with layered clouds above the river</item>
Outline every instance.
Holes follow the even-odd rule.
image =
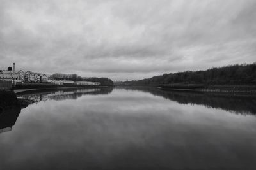
[[[0,0],[0,69],[138,80],[256,61],[255,0]]]

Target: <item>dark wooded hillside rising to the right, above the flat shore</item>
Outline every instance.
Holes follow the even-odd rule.
[[[172,83],[188,84],[255,84],[256,62],[253,64],[235,64],[224,67],[213,67],[205,71],[184,71],[163,74],[143,80],[127,81],[132,85],[159,85]]]

